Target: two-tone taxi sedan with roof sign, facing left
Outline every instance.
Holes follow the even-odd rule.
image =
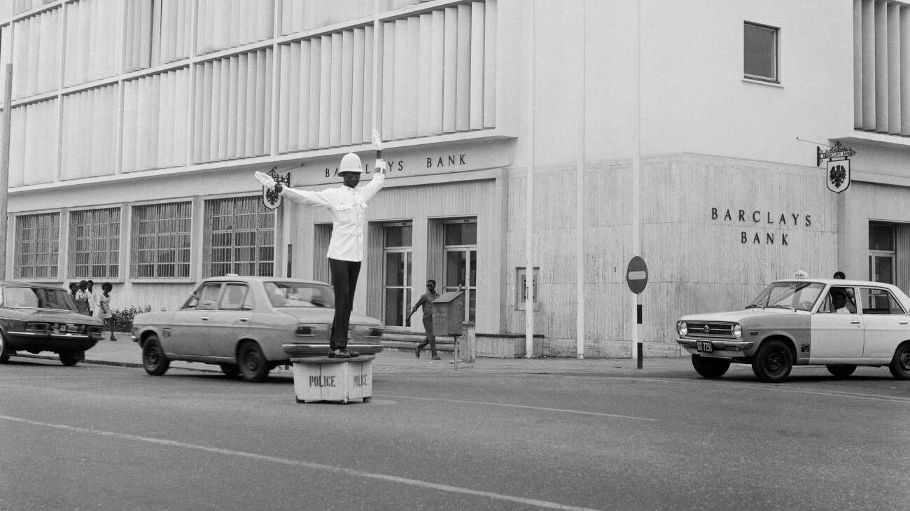
[[[910,379],[910,297],[880,282],[796,278],[767,286],[744,310],[683,316],[676,342],[699,375],[718,378],[751,364],[778,383],[797,366],[827,366],[837,377],[856,366],[888,366]]]

